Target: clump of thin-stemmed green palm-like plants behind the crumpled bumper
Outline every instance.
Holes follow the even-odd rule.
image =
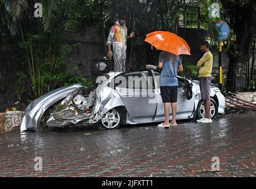
[[[60,44],[59,51],[49,48],[51,44],[45,34],[28,35],[28,41],[20,41],[18,46],[24,54],[25,70],[17,73],[19,84],[29,86],[27,92],[33,97],[39,97],[55,89],[63,78],[59,71],[66,56],[66,45]]]

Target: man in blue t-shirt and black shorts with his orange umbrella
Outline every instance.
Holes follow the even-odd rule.
[[[164,103],[165,121],[158,127],[168,128],[177,126],[177,89],[178,79],[177,73],[183,71],[182,61],[179,54],[189,54],[190,48],[186,41],[168,31],[155,31],[147,34],[145,39],[151,45],[154,45],[158,50],[163,50],[158,59],[158,66],[147,65],[147,69],[158,69],[160,73],[160,91]],[[169,123],[170,103],[172,120]]]

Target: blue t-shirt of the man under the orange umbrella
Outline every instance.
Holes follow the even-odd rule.
[[[160,86],[178,86],[178,66],[182,65],[179,56],[161,51],[158,63],[163,63],[160,73]]]

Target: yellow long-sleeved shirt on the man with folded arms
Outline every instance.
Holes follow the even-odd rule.
[[[202,64],[205,66],[202,66]],[[212,64],[213,64],[213,57],[212,53],[207,52],[203,55],[203,57],[198,61],[196,67],[199,68],[199,77],[212,77]]]

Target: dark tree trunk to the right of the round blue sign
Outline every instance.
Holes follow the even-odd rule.
[[[228,10],[225,17],[229,18],[229,26],[234,30],[236,41],[234,48],[229,50],[229,68],[226,80],[228,90],[236,90],[236,76],[246,74],[246,63],[251,57],[252,40],[256,32],[256,3],[249,1],[239,4],[236,1],[221,1],[223,7]]]

